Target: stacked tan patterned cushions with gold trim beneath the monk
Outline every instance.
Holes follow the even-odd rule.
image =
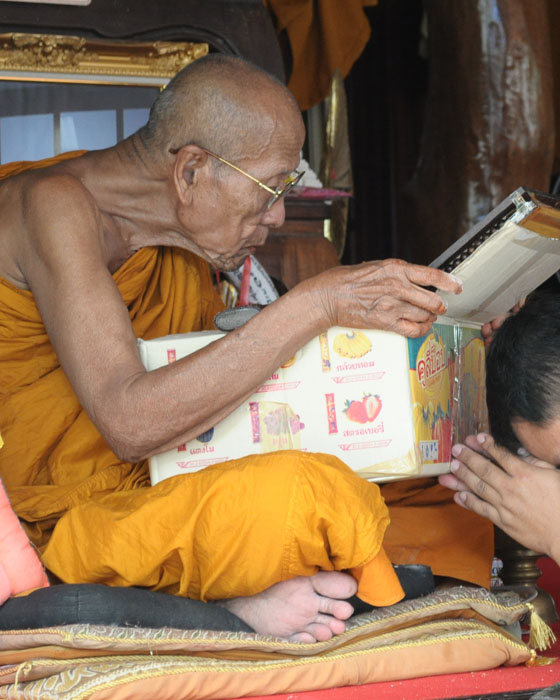
[[[186,700],[302,692],[513,666],[536,654],[500,625],[530,606],[458,587],[356,616],[327,642],[68,626],[0,637],[0,698]]]

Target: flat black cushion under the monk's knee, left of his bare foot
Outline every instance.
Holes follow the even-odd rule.
[[[0,630],[86,623],[253,632],[237,615],[216,603],[97,583],[62,583],[39,588],[0,605]]]

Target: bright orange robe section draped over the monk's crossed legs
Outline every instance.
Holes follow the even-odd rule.
[[[198,600],[350,570],[363,600],[390,605],[403,592],[381,547],[388,522],[379,488],[336,457],[272,452],[94,497],[61,518],[43,561],[69,583]]]

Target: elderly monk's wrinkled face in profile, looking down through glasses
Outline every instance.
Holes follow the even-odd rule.
[[[301,119],[279,120],[266,143],[256,149],[259,155],[236,160],[234,165],[275,190],[297,168],[303,139]],[[270,192],[211,156],[198,176],[195,207],[188,212],[191,242],[219,270],[238,268],[248,255],[258,257],[269,229],[284,222],[284,200],[268,208]]]

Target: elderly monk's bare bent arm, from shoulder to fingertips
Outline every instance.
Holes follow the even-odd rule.
[[[28,222],[35,235],[22,251],[22,269],[82,406],[128,460],[208,430],[330,326],[419,336],[442,311],[441,298],[421,285],[459,289],[439,270],[400,261],[335,268],[301,283],[219,341],[146,372],[107,269],[103,221],[86,195],[79,195],[83,201],[76,207],[76,196],[69,195],[66,208],[57,196],[57,209],[49,210],[40,193],[41,217]]]

